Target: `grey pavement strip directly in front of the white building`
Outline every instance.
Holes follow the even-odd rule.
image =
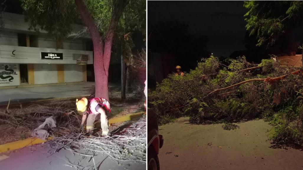
[[[11,103],[17,103],[18,101],[22,103],[25,101],[91,95],[94,87],[95,82],[2,88],[0,89],[0,105],[6,105],[9,99],[11,99]]]

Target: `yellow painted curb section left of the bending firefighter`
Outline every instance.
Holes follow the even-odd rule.
[[[48,139],[46,139],[46,140],[42,140],[42,139],[39,139],[39,138],[27,138],[27,139],[24,139],[24,140],[18,140],[18,141],[15,141],[15,142],[6,143],[6,144],[3,144],[3,145],[0,145],[0,153],[7,152],[7,151],[12,151],[12,150],[15,150],[15,149],[20,149],[20,148],[23,148],[25,146],[31,146],[31,145],[35,145],[35,144],[38,144],[38,143],[43,143],[43,142],[46,142],[46,141],[51,140],[51,139],[52,139],[52,137],[48,137]]]

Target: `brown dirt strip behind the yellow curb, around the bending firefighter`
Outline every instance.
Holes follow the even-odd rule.
[[[110,115],[108,115],[108,119],[115,117],[117,115],[126,115],[130,113],[135,113],[137,111],[143,111],[143,104],[144,100],[140,96],[136,96],[136,94],[129,94],[127,96],[126,100],[121,100],[120,92],[112,92],[110,94],[110,102],[112,107],[112,112]],[[30,113],[35,118],[41,117],[48,113],[49,116],[49,110],[56,110],[56,108],[60,108],[61,110],[69,110],[74,111],[75,110],[75,101],[76,98],[69,98],[69,99],[59,99],[59,100],[45,100],[45,101],[35,101],[35,102],[28,102],[28,103],[20,103],[22,104],[22,108],[19,103],[11,104],[9,105],[9,113],[11,115],[14,115],[15,117],[22,117],[24,114]],[[0,106],[0,119],[2,120],[8,120],[10,121],[11,118],[8,116],[3,115],[5,113],[6,106]],[[35,114],[36,113],[36,114]],[[77,116],[73,116],[77,115]],[[74,128],[79,128],[81,123],[81,116],[75,113],[71,113],[69,115],[70,118],[66,119],[60,119],[57,120],[57,123],[59,126],[66,123],[65,121],[72,120],[71,122],[73,125],[68,125],[69,127],[74,126]],[[97,116],[96,121],[100,119],[99,116]],[[43,120],[35,120],[32,121],[28,118],[25,119],[25,121],[28,121],[26,125],[19,123],[18,126],[8,124],[8,122],[1,122],[0,123],[0,145],[5,144],[8,142],[14,142],[21,139],[26,139],[28,137],[31,137],[32,130],[37,128],[40,124],[44,122]],[[110,131],[113,129],[116,129],[118,126],[120,126],[122,123],[115,123],[113,126],[110,126]],[[60,132],[72,132],[75,129],[71,129],[67,127],[67,125],[64,125],[64,127],[56,128],[57,133],[54,133],[56,135]]]

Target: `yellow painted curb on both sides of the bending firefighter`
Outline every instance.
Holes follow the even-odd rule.
[[[128,120],[132,120],[132,119],[140,117],[144,113],[145,112],[142,111],[142,112],[128,114],[128,115],[122,116],[122,117],[114,117],[114,118],[108,120],[108,124],[110,126],[113,123],[125,122],[125,121],[128,121]],[[98,123],[98,122],[96,122],[96,123]],[[15,142],[2,144],[2,145],[0,145],[0,154],[4,153],[4,152],[24,148],[26,146],[31,146],[31,145],[47,142],[48,140],[52,140],[52,137],[48,137],[48,139],[46,139],[46,140],[42,140],[42,139],[39,139],[39,138],[27,138],[27,139],[24,139],[24,140],[19,140],[19,141],[15,141]]]

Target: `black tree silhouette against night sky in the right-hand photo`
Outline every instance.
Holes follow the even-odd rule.
[[[188,25],[180,21],[158,22],[152,25],[148,48],[152,52],[170,53],[183,71],[197,66],[201,58],[209,57],[207,36],[195,37],[188,33]]]

